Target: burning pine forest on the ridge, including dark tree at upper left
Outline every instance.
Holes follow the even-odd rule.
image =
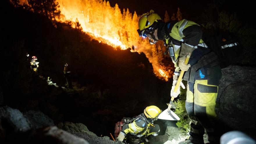
[[[163,65],[163,53],[156,52],[159,49],[165,51],[165,47],[150,45],[147,39],[138,36],[140,16],[136,11],[132,14],[127,8],[121,13],[118,4],[111,7],[109,1],[105,0],[28,0],[27,4],[26,7],[32,11],[41,13],[53,21],[73,22],[73,27],[79,27],[94,39],[112,47],[127,49],[134,45],[137,52],[145,53],[157,76],[166,81],[172,77],[172,67]],[[166,21],[170,19],[168,17],[166,11]],[[176,17],[181,18],[179,8]]]

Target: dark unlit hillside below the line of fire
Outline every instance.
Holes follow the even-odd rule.
[[[81,122],[97,135],[113,132],[115,122],[142,113],[145,106],[166,109],[170,83],[154,76],[145,54],[115,50],[68,23],[52,24],[47,17],[8,1],[0,5],[3,105],[40,110],[55,123]],[[29,63],[34,55],[37,74]],[[61,88],[65,63],[75,90]],[[48,86],[47,77],[59,87]]]

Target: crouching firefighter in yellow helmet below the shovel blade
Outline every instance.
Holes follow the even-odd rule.
[[[157,136],[160,132],[159,125],[153,124],[162,111],[157,106],[147,106],[144,113],[138,115],[131,123],[122,126],[117,137],[118,141],[126,141],[129,144],[144,144],[147,136]]]

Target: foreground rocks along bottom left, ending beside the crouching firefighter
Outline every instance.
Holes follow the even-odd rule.
[[[122,144],[98,137],[81,123],[61,122],[58,127],[40,111],[22,114],[18,109],[0,107],[0,143]]]

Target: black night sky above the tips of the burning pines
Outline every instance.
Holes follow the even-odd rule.
[[[232,0],[109,0],[111,6],[118,4],[121,11],[123,8],[129,8],[131,13],[142,15],[149,12],[151,9],[164,18],[165,10],[167,10],[169,16],[173,13],[177,13],[177,8],[180,8],[182,18],[193,21],[200,21],[200,16],[205,13],[210,4],[215,3],[217,6],[222,3],[223,9],[229,11],[236,11],[238,14],[243,14],[244,20],[248,20],[251,17],[255,17],[254,4],[252,0],[232,1]]]

